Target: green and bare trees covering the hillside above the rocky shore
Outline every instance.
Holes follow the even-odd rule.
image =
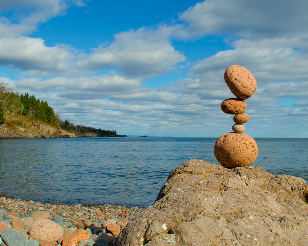
[[[55,127],[61,127],[68,131],[92,132],[98,136],[122,136],[113,130],[96,129],[90,126],[74,125],[72,122],[62,121],[60,116],[48,105],[47,101],[40,101],[29,93],[19,95],[18,92],[10,92],[7,84],[0,82],[0,125],[10,121],[13,115],[24,115],[30,120],[42,121]]]

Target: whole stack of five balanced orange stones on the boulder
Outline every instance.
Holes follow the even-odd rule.
[[[222,165],[228,168],[244,167],[252,164],[258,156],[256,141],[243,133],[249,120],[244,113],[247,107],[245,99],[251,97],[257,89],[257,81],[253,75],[240,65],[229,66],[224,74],[225,82],[237,98],[229,98],[221,103],[221,110],[227,114],[235,114],[232,133],[220,136],[214,145],[214,154]]]

